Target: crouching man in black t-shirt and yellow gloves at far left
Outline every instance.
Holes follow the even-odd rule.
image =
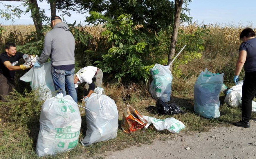
[[[18,61],[24,54],[16,52],[16,45],[11,42],[5,43],[5,52],[0,55],[0,100],[6,102],[4,96],[15,88],[14,76],[16,70],[26,70],[32,65],[19,65]]]

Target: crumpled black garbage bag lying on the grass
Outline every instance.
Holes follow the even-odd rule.
[[[153,106],[154,107],[154,106]],[[184,114],[185,112],[181,110],[179,106],[173,103],[165,103],[161,100],[157,100],[156,102],[156,107],[153,108],[150,106],[151,109],[155,109],[159,114],[179,114],[182,113]]]

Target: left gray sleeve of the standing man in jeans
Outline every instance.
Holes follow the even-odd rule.
[[[51,52],[52,52],[52,36],[51,34],[47,33],[44,38],[44,49],[40,58],[38,59],[38,63],[39,64],[44,63],[47,60],[47,58],[49,58],[49,56],[51,55]]]

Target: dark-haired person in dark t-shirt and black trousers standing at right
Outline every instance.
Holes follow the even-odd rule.
[[[239,57],[236,65],[236,72],[233,78],[237,84],[239,74],[244,67],[245,78],[242,87],[242,120],[234,123],[235,126],[250,128],[252,114],[252,101],[256,95],[256,38],[251,28],[245,28],[240,39],[243,43],[239,48]]]

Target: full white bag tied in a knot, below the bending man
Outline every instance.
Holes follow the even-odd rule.
[[[82,145],[114,139],[118,129],[118,111],[115,101],[102,94],[103,88],[96,88],[95,93],[85,104],[86,136]]]

